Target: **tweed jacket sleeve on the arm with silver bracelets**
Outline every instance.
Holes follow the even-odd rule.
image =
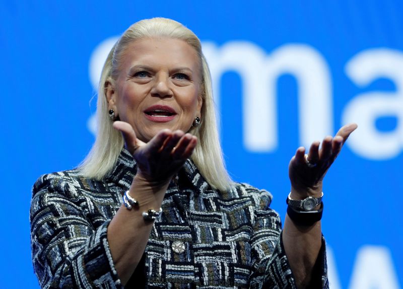
[[[90,201],[60,175],[35,183],[31,249],[41,288],[122,288],[107,241],[109,221],[94,228],[88,207]]]

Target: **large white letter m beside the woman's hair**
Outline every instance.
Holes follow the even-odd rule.
[[[209,61],[213,91],[218,96],[225,71],[234,70],[243,84],[243,139],[252,152],[271,152],[278,147],[278,78],[291,74],[298,83],[301,144],[332,134],[331,79],[326,61],[308,45],[287,44],[267,56],[251,42],[229,42],[221,48],[203,43]],[[319,120],[319,121],[318,121]]]

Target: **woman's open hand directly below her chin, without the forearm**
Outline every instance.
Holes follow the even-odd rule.
[[[163,129],[145,143],[129,123],[115,121],[113,127],[122,133],[126,149],[137,162],[137,176],[150,182],[169,182],[197,144],[196,136],[181,130]]]

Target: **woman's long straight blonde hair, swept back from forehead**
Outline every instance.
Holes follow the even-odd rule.
[[[200,40],[191,30],[179,22],[165,18],[146,19],[131,25],[109,52],[102,69],[98,88],[96,140],[90,153],[81,163],[79,170],[84,176],[99,180],[115,166],[124,141],[120,132],[112,127],[112,121],[108,116],[105,83],[108,78],[116,79],[122,52],[129,43],[141,38],[154,37],[183,40],[193,47],[199,56],[202,69],[201,97],[203,98],[203,106],[201,107],[200,125],[197,128],[192,127],[189,131],[198,139],[190,159],[213,188],[227,190],[231,187],[232,180],[224,165],[217,131],[210,70],[205,56],[201,52]]]

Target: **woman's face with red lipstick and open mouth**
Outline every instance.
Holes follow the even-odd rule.
[[[201,69],[183,40],[144,38],[123,51],[119,74],[106,88],[108,109],[149,141],[163,128],[188,131],[200,117]]]

